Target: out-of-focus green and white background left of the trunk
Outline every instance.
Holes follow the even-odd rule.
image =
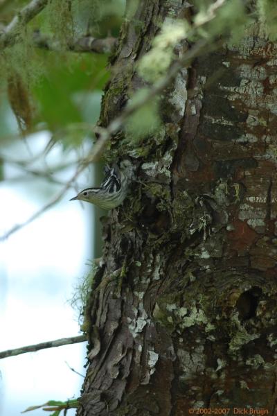
[[[0,28],[27,3],[0,0]],[[120,0],[49,1],[0,51],[0,351],[80,334],[79,291],[101,255],[107,213],[69,199],[100,184],[102,163],[70,180],[93,148],[109,70],[107,54],[69,51],[68,40],[118,37],[124,8]],[[85,374],[85,354],[80,343],[1,360],[0,415],[77,398],[83,378],[70,367]]]

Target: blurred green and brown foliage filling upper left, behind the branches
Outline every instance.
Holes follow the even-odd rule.
[[[69,49],[74,40],[87,34],[107,36],[111,31],[118,35],[123,4],[114,0],[49,0],[29,24],[19,25],[16,41],[0,52],[0,95],[1,101],[10,103],[21,135],[46,128],[66,147],[82,144],[87,137],[83,123],[88,111],[90,123],[100,112],[100,91],[109,79],[107,55],[77,54]],[[17,2],[18,10],[23,5]],[[2,21],[12,19],[8,6],[0,7],[0,13]],[[37,48],[36,36],[48,40],[53,51]],[[83,92],[93,96],[93,103],[86,98],[86,114],[80,102]],[[5,116],[0,111],[0,121]],[[69,123],[74,124],[76,134],[67,128]],[[86,132],[90,136],[91,130],[90,126]],[[3,134],[6,132],[0,131],[0,140]]]

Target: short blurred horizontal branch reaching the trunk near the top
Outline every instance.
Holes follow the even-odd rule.
[[[35,31],[33,34],[35,46],[46,49],[48,51],[60,51],[64,46],[60,42],[49,38],[46,35]],[[68,45],[69,51],[73,52],[95,52],[95,53],[111,53],[114,50],[117,39],[116,37],[105,37],[98,39],[92,36],[80,37],[80,39],[70,42]]]

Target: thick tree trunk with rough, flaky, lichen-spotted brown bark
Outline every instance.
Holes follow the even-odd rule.
[[[134,65],[161,22],[189,13],[181,0],[138,2],[102,125],[143,85]],[[79,416],[277,415],[277,48],[255,28],[180,71],[159,134],[134,143],[120,133],[109,145],[140,182],[105,223]]]

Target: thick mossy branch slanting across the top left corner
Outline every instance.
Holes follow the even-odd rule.
[[[21,11],[15,15],[6,26],[4,33],[0,35],[0,49],[6,48],[16,42],[21,27],[26,25],[47,5],[48,0],[32,0]]]

